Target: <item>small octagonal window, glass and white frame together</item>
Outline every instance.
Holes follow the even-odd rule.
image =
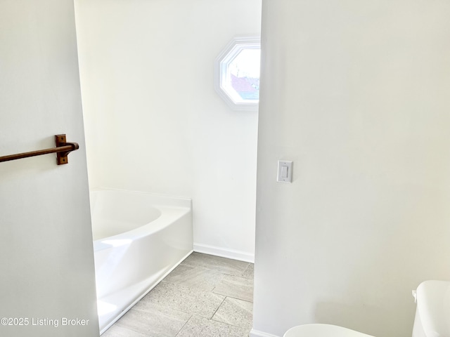
[[[257,110],[259,38],[235,38],[216,60],[216,91],[233,110]]]

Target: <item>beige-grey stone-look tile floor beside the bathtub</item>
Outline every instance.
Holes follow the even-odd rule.
[[[192,253],[102,337],[247,337],[253,264]]]

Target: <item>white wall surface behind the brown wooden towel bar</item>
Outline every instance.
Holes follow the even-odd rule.
[[[60,133],[80,145],[66,165],[55,154],[0,163],[0,317],[24,319],[0,336],[96,337],[73,2],[0,1],[0,74],[0,156],[55,147]]]

